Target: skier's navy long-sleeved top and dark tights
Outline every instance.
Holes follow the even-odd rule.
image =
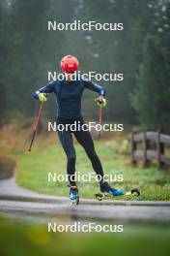
[[[89,80],[54,80],[48,82],[46,86],[42,87],[34,93],[34,98],[39,99],[39,93],[52,93],[54,92],[57,98],[58,112],[57,112],[57,124],[72,124],[74,121],[84,123],[81,115],[81,99],[84,89],[89,89],[99,93],[99,96],[105,97],[105,90],[102,86],[89,81]],[[72,135],[74,134],[77,142],[81,144],[89,159],[92,162],[92,166],[96,174],[100,177],[103,176],[102,166],[99,161],[99,157],[96,153],[95,146],[89,131],[82,129],[72,131],[59,131],[58,136],[60,142],[66,152],[68,158],[67,173],[69,176],[71,186],[76,185],[75,181],[71,179],[71,176],[75,173],[75,150],[73,147]]]

